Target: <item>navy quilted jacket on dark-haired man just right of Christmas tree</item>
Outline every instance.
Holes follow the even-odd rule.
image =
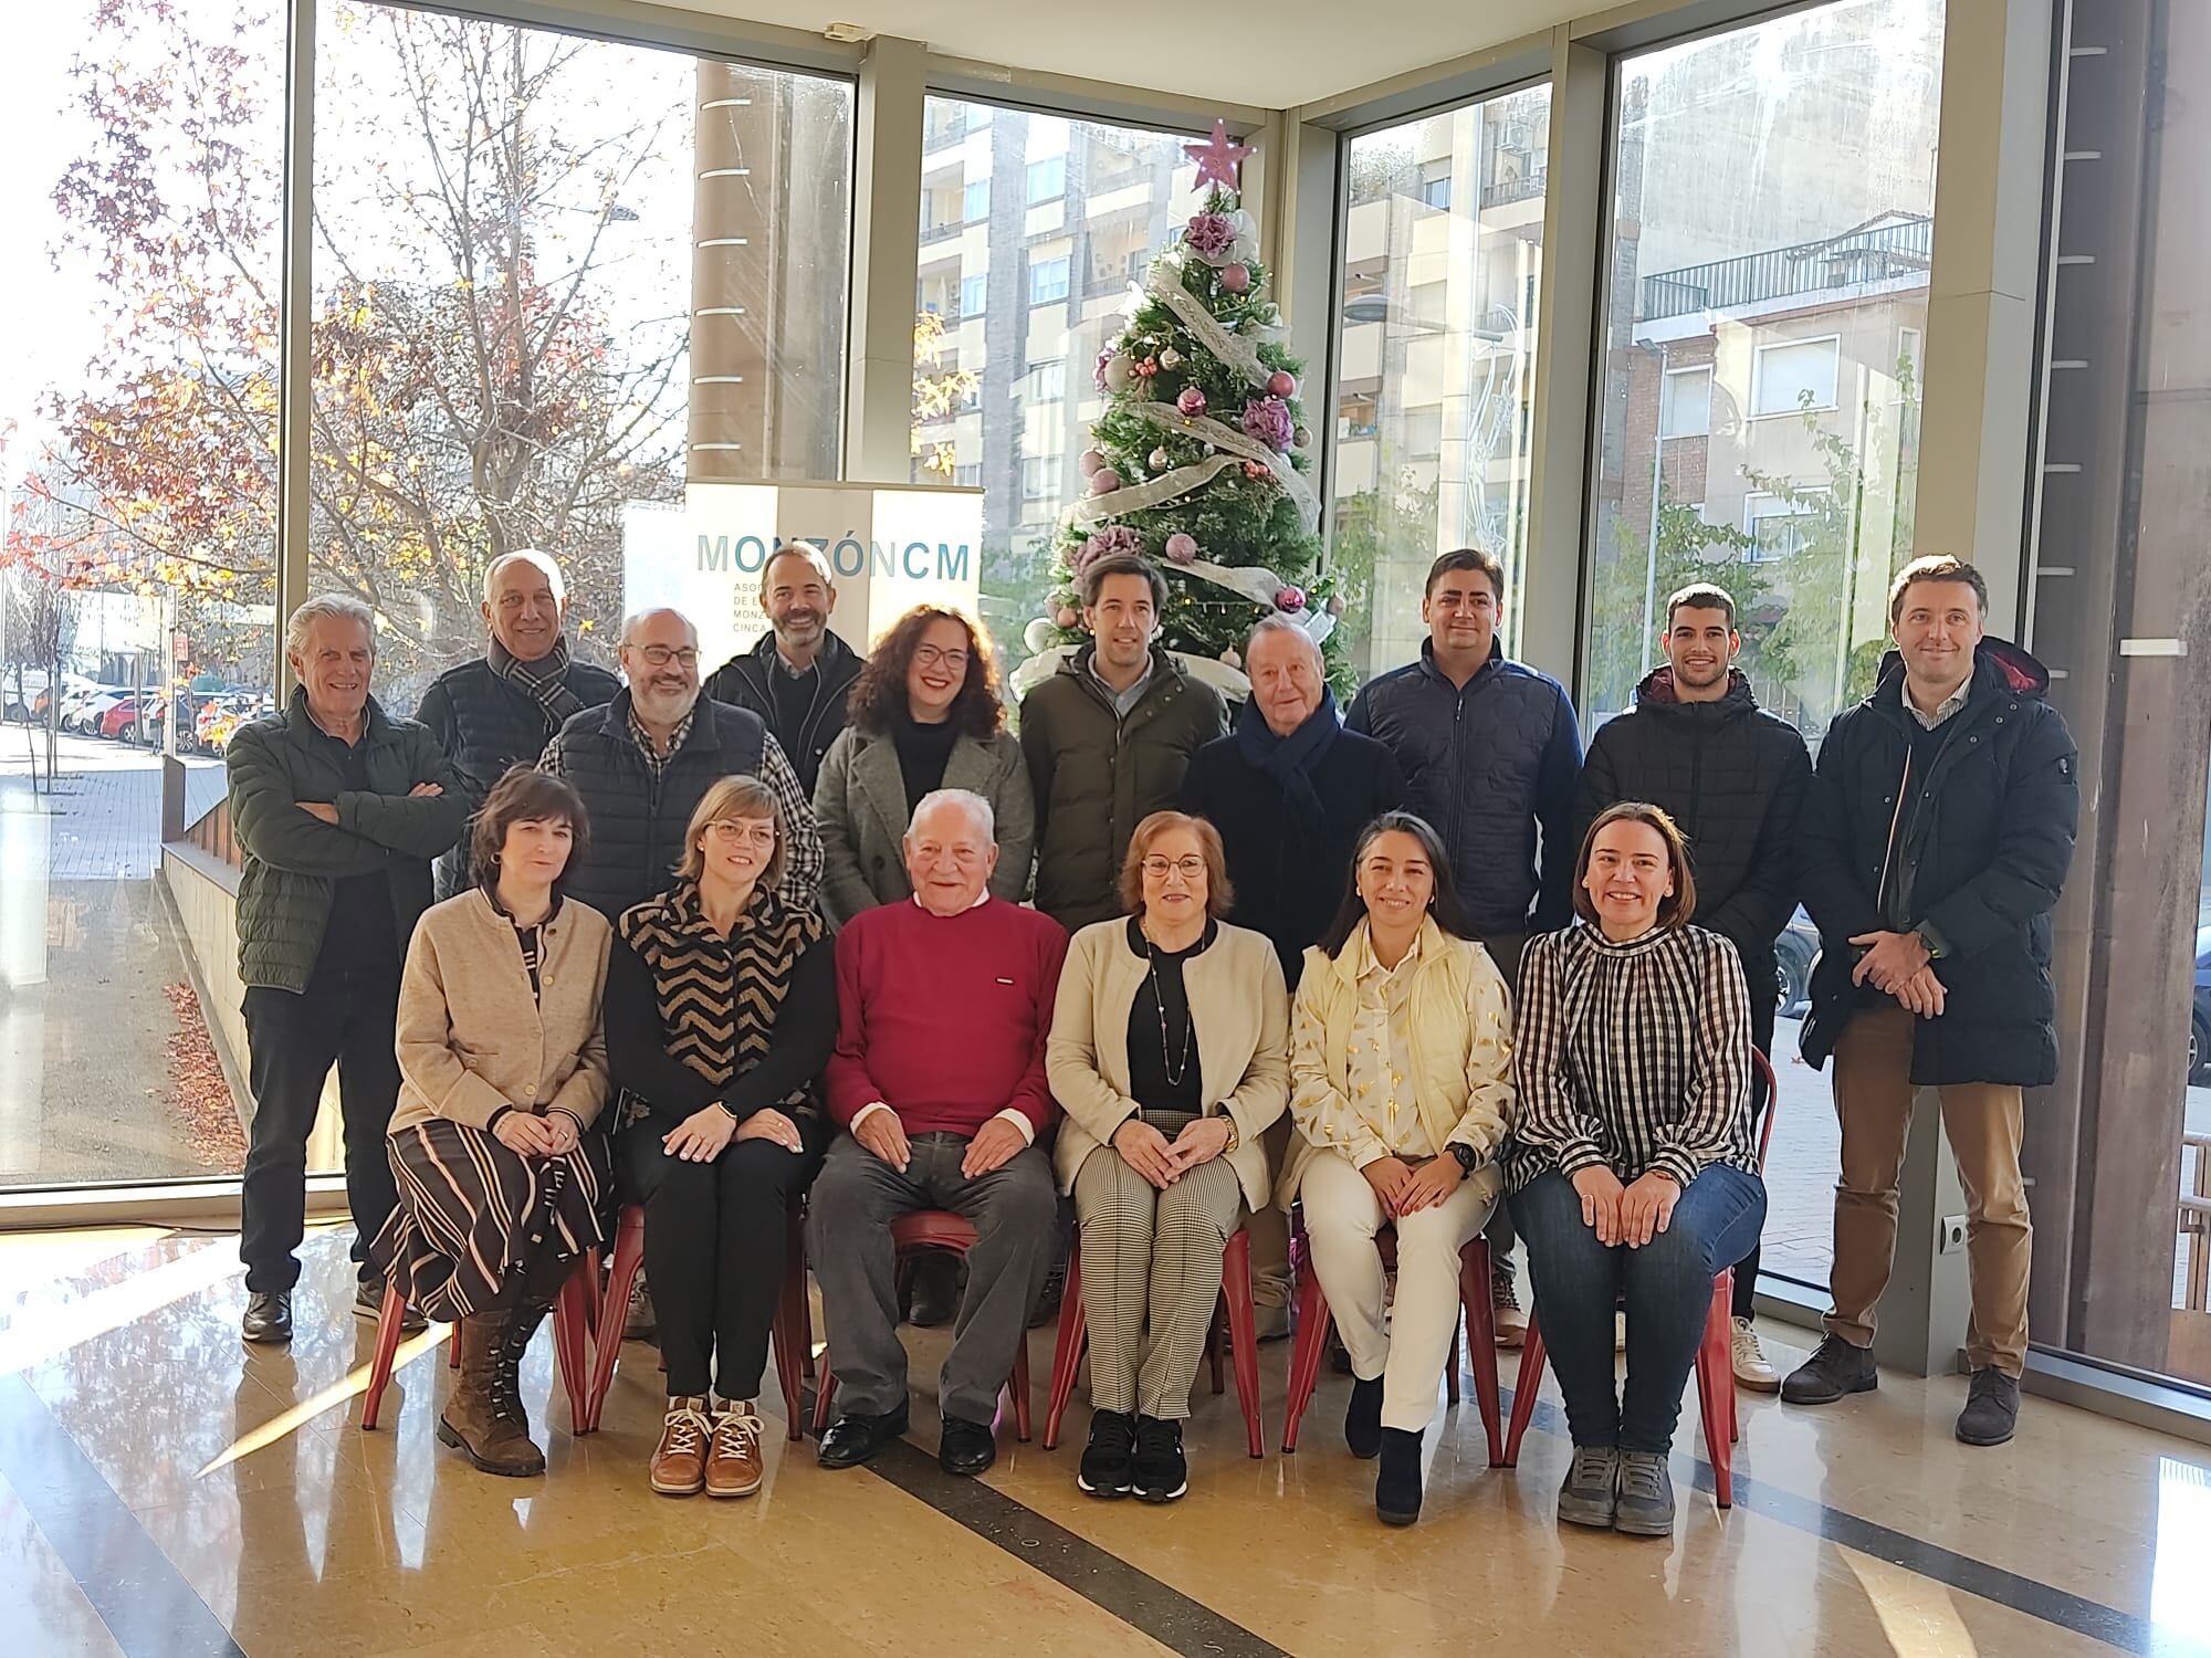
[[[1550,933],[1574,920],[1581,732],[1557,679],[1492,643],[1475,676],[1453,685],[1422,643],[1419,661],[1366,683],[1346,725],[1397,756],[1413,811],[1444,838],[1475,933]]]

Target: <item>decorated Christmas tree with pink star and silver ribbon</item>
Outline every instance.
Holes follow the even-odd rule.
[[[1028,626],[1026,690],[1079,648],[1081,573],[1141,553],[1167,577],[1161,643],[1232,696],[1245,696],[1243,643],[1280,612],[1320,646],[1329,679],[1351,668],[1329,634],[1342,615],[1320,570],[1302,363],[1282,349],[1251,217],[1236,195],[1232,144],[1216,122],[1185,146],[1205,206],[1161,250],[1097,360],[1106,409],[1081,455],[1083,493],[1061,515],[1050,615]]]

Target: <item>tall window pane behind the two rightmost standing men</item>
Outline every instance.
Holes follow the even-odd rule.
[[[1941,0],[1844,0],[1616,69],[1583,723],[1689,581],[1736,595],[1758,701],[1815,745],[1873,688],[1913,557]],[[1835,1112],[1784,937],[1769,1271],[1826,1282]]]

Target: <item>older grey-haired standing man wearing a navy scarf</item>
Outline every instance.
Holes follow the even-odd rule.
[[[1220,831],[1229,920],[1265,933],[1298,988],[1304,946],[1318,944],[1351,882],[1360,829],[1404,805],[1395,756],[1346,732],[1313,637],[1265,617],[1245,641],[1251,696],[1236,730],[1190,758],[1183,811]],[[1267,1165],[1282,1167],[1289,1114],[1267,1130]],[[1289,1335],[1289,1216],[1271,1203],[1245,1225],[1260,1340]]]

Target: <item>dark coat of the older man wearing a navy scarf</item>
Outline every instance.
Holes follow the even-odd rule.
[[[1291,990],[1304,946],[1320,942],[1344,902],[1360,829],[1404,805],[1404,774],[1371,736],[1340,732],[1313,767],[1313,794],[1324,816],[1320,844],[1307,844],[1282,787],[1245,760],[1234,732],[1192,754],[1183,774],[1183,811],[1220,831],[1236,893],[1229,920],[1274,942]]]

